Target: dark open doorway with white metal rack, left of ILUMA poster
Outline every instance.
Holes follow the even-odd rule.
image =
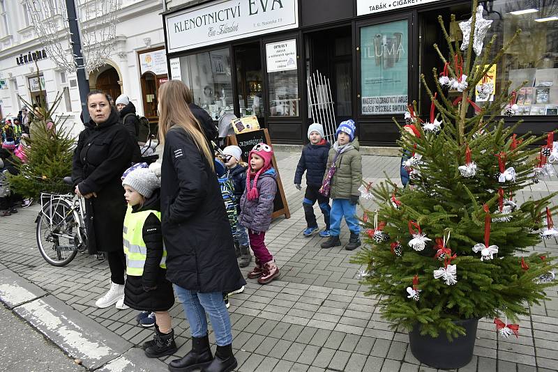
[[[335,103],[335,123],[352,118],[351,26],[308,33],[306,45],[308,75],[318,70],[329,78]]]

